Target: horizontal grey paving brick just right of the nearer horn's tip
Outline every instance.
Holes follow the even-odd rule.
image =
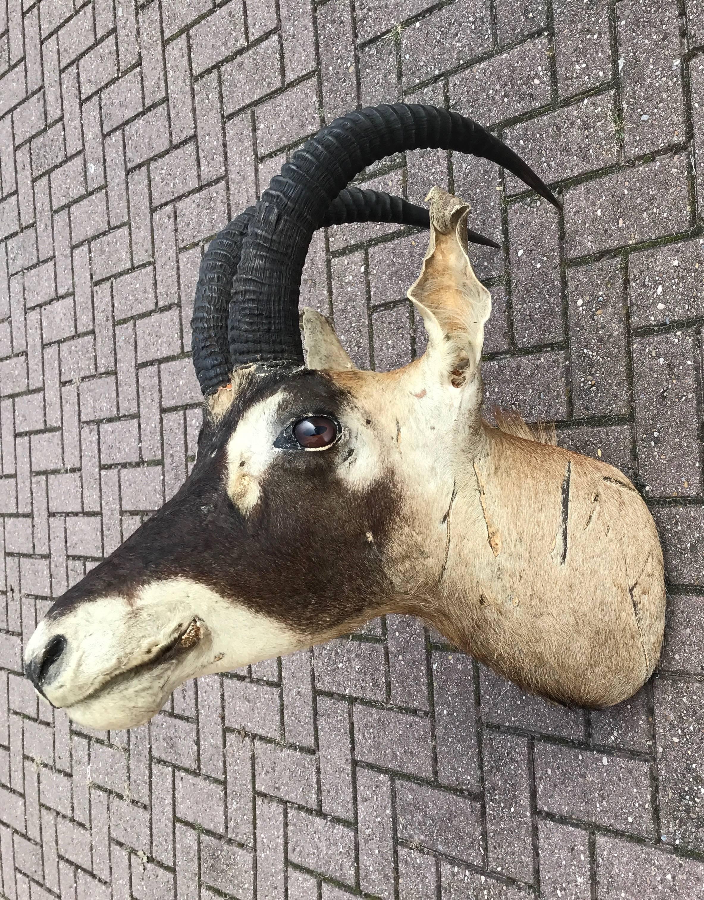
[[[689,220],[687,159],[658,158],[566,192],[567,253],[625,247],[686,229]]]

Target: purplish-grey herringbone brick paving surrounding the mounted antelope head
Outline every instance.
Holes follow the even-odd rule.
[[[204,244],[325,121],[402,98],[492,126],[562,196],[434,151],[365,174],[448,186],[502,242],[475,254],[487,408],[557,420],[650,499],[657,677],[552,707],[388,617],[187,684],[149,727],[70,725],[22,644],[192,463]],[[701,0],[0,0],[2,896],[704,897],[702,173]],[[304,300],[359,365],[422,350],[424,246],[317,236]]]

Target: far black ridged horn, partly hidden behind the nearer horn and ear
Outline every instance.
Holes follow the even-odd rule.
[[[193,365],[204,394],[217,391],[229,380],[232,367],[227,346],[227,310],[232,279],[239,265],[242,238],[254,215],[254,206],[222,229],[209,244],[201,261],[191,320]],[[330,204],[321,227],[355,221],[397,222],[430,228],[430,216],[422,206],[402,197],[358,187],[341,191]],[[493,240],[468,229],[468,239],[487,247]]]

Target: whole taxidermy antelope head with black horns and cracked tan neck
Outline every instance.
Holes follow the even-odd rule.
[[[468,204],[434,188],[428,222],[397,198],[344,190],[380,157],[431,147],[492,159],[557,205],[474,122],[397,103],[321,130],[212,241],[193,315],[206,400],[192,474],[27,647],[35,687],[77,722],[147,722],[186,679],[388,612],[423,617],[562,703],[608,706],[653,671],[663,559],[640,495],[520,420],[481,419],[491,298],[468,258]],[[430,224],[408,292],[428,346],[396,372],[356,369],[313,311],[304,363],[307,247],[352,219]]]

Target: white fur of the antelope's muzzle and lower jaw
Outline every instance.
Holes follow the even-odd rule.
[[[194,618],[201,626],[198,644],[170,662],[136,668]],[[147,722],[187,679],[294,653],[310,643],[185,578],[156,581],[131,604],[119,597],[91,600],[55,623],[45,619],[32,635],[27,658],[40,653],[54,635],[67,638],[68,655],[57,680],[45,689],[47,698],[66,707],[77,722],[99,729]],[[120,678],[130,669],[135,670],[132,677]]]

